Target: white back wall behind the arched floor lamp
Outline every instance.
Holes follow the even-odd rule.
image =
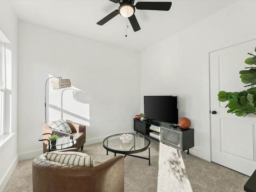
[[[26,22],[19,22],[18,36],[21,158],[42,152],[38,138],[44,124],[44,86],[49,74],[68,78],[72,88],[85,92],[83,101],[90,103],[90,119],[86,114],[68,119],[90,124],[86,144],[133,130],[133,118],[140,112],[139,52]],[[57,91],[50,94],[59,94]]]

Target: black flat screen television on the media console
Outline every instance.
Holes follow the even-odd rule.
[[[178,96],[144,96],[146,118],[178,124]]]

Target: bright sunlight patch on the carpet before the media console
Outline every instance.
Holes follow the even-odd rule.
[[[192,192],[183,159],[176,149],[160,142],[158,164],[157,192]]]

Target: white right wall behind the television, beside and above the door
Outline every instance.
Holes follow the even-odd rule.
[[[209,161],[208,52],[255,33],[255,7],[256,1],[239,1],[141,52],[141,110],[144,95],[178,95],[179,117],[189,118],[194,128],[190,153]]]

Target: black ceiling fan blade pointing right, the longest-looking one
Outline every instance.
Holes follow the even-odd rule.
[[[136,9],[142,10],[159,10],[168,11],[172,6],[172,2],[137,2]]]

